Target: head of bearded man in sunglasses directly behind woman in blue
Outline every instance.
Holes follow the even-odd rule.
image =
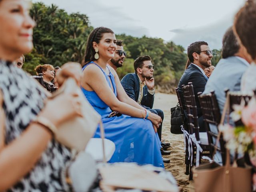
[[[108,62],[108,64],[114,68],[114,70],[116,71],[116,69],[118,67],[122,67],[124,64],[124,58],[126,57],[126,52],[124,51],[124,47],[123,47],[123,41],[120,39],[116,40],[116,52],[115,55],[112,59],[110,59],[110,61]]]

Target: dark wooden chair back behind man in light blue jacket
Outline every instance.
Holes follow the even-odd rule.
[[[214,91],[210,92],[209,94],[198,93],[198,99],[206,125],[206,132],[208,134],[208,142],[210,146],[210,154],[212,156],[219,132],[218,125],[220,124],[221,119],[220,109]],[[221,154],[223,164],[225,164],[226,149],[222,135],[220,136],[220,141],[217,146],[217,153],[218,152]]]

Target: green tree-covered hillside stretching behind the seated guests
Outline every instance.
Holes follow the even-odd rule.
[[[27,54],[24,70],[35,74],[38,64],[61,66],[68,61],[82,63],[86,40],[93,30],[85,14],[68,14],[56,5],[46,6],[34,3],[30,15],[36,21],[34,28],[34,50]],[[161,38],[143,36],[137,38],[126,34],[117,34],[123,40],[127,56],[124,66],[118,68],[118,76],[134,72],[133,62],[141,55],[150,55],[156,66],[154,78],[156,85],[162,87],[177,86],[187,60],[184,48],[174,42],[164,42]],[[220,51],[213,50],[212,64],[220,59]]]

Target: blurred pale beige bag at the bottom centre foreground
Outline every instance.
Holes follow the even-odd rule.
[[[163,168],[152,165],[139,166],[135,163],[114,163],[100,167],[103,192],[115,192],[116,189],[137,189],[155,192],[178,192],[176,181],[168,180],[159,172]],[[170,174],[168,172],[168,174]]]

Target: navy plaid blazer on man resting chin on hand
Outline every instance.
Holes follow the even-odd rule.
[[[129,73],[126,76],[124,76],[121,80],[121,84],[127,93],[127,95],[138,102],[138,97],[140,93],[140,80],[136,73]],[[143,96],[140,104],[144,108],[150,108],[152,109],[154,104],[154,95],[151,95],[148,93],[148,87],[144,86],[143,88]]]

